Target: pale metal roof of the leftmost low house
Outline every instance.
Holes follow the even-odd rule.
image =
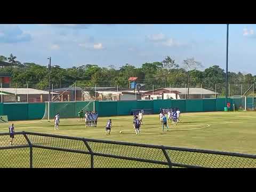
[[[36,89],[31,89],[31,88],[2,88],[3,92],[7,93],[12,93],[12,94],[49,94],[47,91],[42,91],[42,90],[36,90]],[[1,92],[1,88],[0,88]],[[59,94],[55,92],[51,92],[51,94]]]

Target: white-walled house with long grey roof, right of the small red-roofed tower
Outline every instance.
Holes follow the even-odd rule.
[[[214,91],[201,89],[201,88],[189,88],[189,99],[201,99],[201,98],[215,98],[219,93]],[[142,99],[187,99],[187,88],[161,88],[153,91],[147,91],[142,94]]]

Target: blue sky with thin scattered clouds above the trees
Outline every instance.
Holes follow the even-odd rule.
[[[63,68],[100,67],[163,61],[169,55],[181,67],[194,57],[204,68],[226,70],[226,25],[154,24],[0,24],[0,55],[21,62]],[[229,25],[229,71],[256,75],[256,25]]]

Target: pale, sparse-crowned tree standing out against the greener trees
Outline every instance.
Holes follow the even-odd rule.
[[[190,75],[194,70],[203,68],[203,65],[199,61],[195,61],[194,58],[187,58],[183,60],[183,65],[188,71],[188,99],[189,99],[189,85],[190,85]]]

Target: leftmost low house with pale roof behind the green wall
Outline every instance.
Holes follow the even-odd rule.
[[[45,102],[49,101],[49,92],[31,88],[2,88],[2,102]],[[52,95],[58,93],[51,92]]]

